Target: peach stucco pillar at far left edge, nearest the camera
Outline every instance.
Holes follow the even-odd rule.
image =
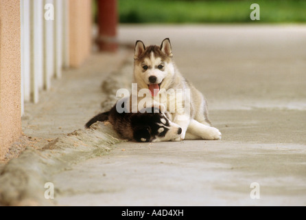
[[[20,1],[0,0],[0,159],[21,135]]]

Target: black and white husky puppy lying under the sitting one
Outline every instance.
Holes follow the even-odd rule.
[[[122,106],[123,107],[123,106]],[[180,137],[182,129],[167,118],[167,113],[148,107],[143,113],[119,113],[116,105],[110,111],[95,115],[86,123],[86,128],[99,121],[109,120],[113,128],[122,137],[137,142],[163,142]]]

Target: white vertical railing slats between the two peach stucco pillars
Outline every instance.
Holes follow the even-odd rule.
[[[69,0],[21,0],[21,111],[69,67]]]

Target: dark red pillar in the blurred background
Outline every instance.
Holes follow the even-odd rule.
[[[117,43],[117,0],[97,0],[99,50],[115,52]]]

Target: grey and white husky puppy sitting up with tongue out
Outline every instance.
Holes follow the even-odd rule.
[[[142,41],[136,42],[134,81],[137,83],[138,92],[149,89],[154,107],[156,102],[166,107],[169,112],[169,120],[178,124],[182,129],[180,137],[174,138],[175,141],[185,138],[220,140],[220,131],[211,126],[209,121],[207,102],[204,96],[180,74],[172,57],[169,39],[164,39],[160,46],[145,47]],[[189,91],[190,96],[186,96],[181,102],[176,100],[173,104],[172,99],[177,99],[184,91]],[[167,98],[160,98],[163,95]],[[148,96],[145,98],[148,99]],[[138,104],[141,100],[137,97]],[[187,105],[188,111],[185,108]]]

